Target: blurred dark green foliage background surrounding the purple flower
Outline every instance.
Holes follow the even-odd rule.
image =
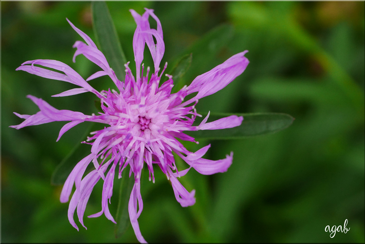
[[[142,183],[139,218],[148,242],[362,242],[364,243],[364,2],[108,2],[122,48],[133,70],[135,23],[129,9],[152,8],[161,20],[162,64],[193,54],[190,82],[228,57],[249,50],[246,71],[198,112],[280,112],[295,117],[284,131],[212,143],[206,157],[234,151],[225,173],[181,178],[196,204],[176,202],[163,174]],[[55,59],[84,78],[99,68],[83,56],[72,62],[81,38],[66,18],[95,40],[90,2],[1,2],[1,242],[136,242],[131,227],[119,239],[100,211],[102,183],[94,188],[77,232],[51,185],[56,166],[79,144],[89,124],[55,142],[64,122],[15,130],[20,114],[37,113],[27,94],[57,109],[97,113],[93,94],[51,97],[74,88],[15,69],[34,59]],[[150,21],[152,26],[156,24]],[[144,62],[151,65],[147,58]],[[97,90],[107,78],[95,79]],[[78,160],[75,160],[75,164]],[[157,171],[157,170],[156,170]],[[115,216],[119,184],[110,211]],[[334,238],[326,225],[344,225]]]

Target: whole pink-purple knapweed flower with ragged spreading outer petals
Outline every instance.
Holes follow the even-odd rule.
[[[73,168],[63,186],[60,201],[62,203],[69,201],[73,185],[75,185],[75,191],[69,205],[68,218],[71,225],[78,230],[73,219],[73,213],[77,208],[79,222],[85,227],[83,215],[86,204],[93,187],[101,178],[104,181],[101,211],[89,217],[99,217],[104,213],[109,220],[115,223],[108,208],[108,200],[110,200],[113,192],[114,173],[118,166],[118,176],[120,178],[122,171],[129,165],[129,177],[132,172],[134,174],[134,186],[128,203],[129,218],[138,241],[146,242],[137,221],[143,209],[140,191],[142,168],[146,163],[149,180],[152,179],[154,182],[153,165],[157,165],[171,182],[176,200],[181,206],[194,205],[195,190],[188,192],[177,178],[185,175],[191,168],[206,175],[225,172],[232,164],[233,152],[227,155],[226,158],[217,161],[203,159],[202,156],[210,148],[210,145],[196,152],[190,152],[184,148],[177,138],[196,142],[193,137],[183,133],[183,131],[225,129],[239,126],[242,123],[243,117],[236,115],[207,123],[208,113],[208,116],[203,119],[199,126],[193,126],[196,116],[201,116],[195,109],[198,100],[223,89],[238,75],[242,74],[249,61],[244,56],[247,51],[238,53],[211,71],[197,76],[189,86],[184,86],[179,92],[171,94],[173,87],[173,77],[171,75],[166,75],[168,80],[160,86],[161,77],[167,66],[166,63],[164,69],[160,72],[160,62],[165,48],[161,22],[151,9],[146,9],[142,16],[134,10],[130,10],[130,12],[137,24],[133,36],[136,76],[132,75],[128,62],[125,64],[125,81],[118,80],[107,59],[97,49],[91,38],[77,29],[68,19],[67,21],[69,21],[72,28],[86,42],[76,41],[73,45],[77,49],[73,56],[73,62],[75,62],[75,57],[81,54],[97,64],[102,69],[101,71],[85,80],[70,66],[48,59],[26,61],[17,69],[45,78],[70,82],[80,87],[53,96],[69,96],[85,92],[95,94],[101,100],[103,113],[85,115],[69,110],[57,110],[41,98],[28,95],[27,97],[37,104],[40,111],[33,115],[15,113],[25,120],[21,124],[11,127],[20,129],[53,121],[71,121],[60,130],[58,141],[63,133],[84,121],[106,124],[107,126],[103,130],[91,132],[92,136],[84,142],[92,145],[91,153]],[[150,28],[149,16],[157,22],[157,29]],[[147,44],[154,62],[154,73],[151,74],[149,67],[144,69],[142,64],[145,44]],[[64,74],[39,66],[51,68]],[[110,91],[109,89],[108,91],[98,92],[87,82],[103,75],[109,75],[119,91]],[[197,94],[184,101],[185,96],[193,93]],[[180,156],[190,167],[178,171],[172,152]],[[83,177],[91,162],[95,169]],[[107,171],[108,168],[109,171]]]

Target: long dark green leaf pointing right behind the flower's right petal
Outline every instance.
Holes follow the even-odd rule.
[[[209,116],[209,120],[214,121],[230,115],[233,114],[212,114]],[[286,113],[240,113],[236,115],[243,116],[243,121],[240,126],[223,130],[185,131],[185,133],[196,139],[241,139],[284,130],[294,120],[291,115]],[[198,119],[196,122],[200,123]]]

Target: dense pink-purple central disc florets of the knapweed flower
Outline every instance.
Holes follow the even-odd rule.
[[[167,63],[164,70],[166,66]],[[123,169],[131,164],[130,161],[142,154],[149,169],[149,180],[155,181],[152,163],[159,164],[169,178],[168,168],[176,170],[175,162],[171,160],[172,151],[175,149],[184,154],[189,153],[187,150],[182,150],[183,145],[173,135],[191,127],[195,117],[201,115],[196,112],[194,105],[177,106],[183,101],[187,89],[185,86],[180,92],[171,94],[173,87],[171,75],[166,75],[167,81],[159,87],[164,70],[160,75],[158,70],[149,78],[148,67],[146,75],[136,82],[126,64],[123,91],[101,92],[105,99],[102,99],[101,108],[104,113],[101,113],[100,117],[106,118],[110,127],[95,131],[96,133],[89,137],[88,141],[95,140],[89,143],[93,147],[98,147],[97,144],[112,145],[124,152],[121,157],[127,157],[127,160],[125,164],[119,164],[119,177]],[[142,74],[143,72],[142,65]],[[98,138],[102,139],[99,141]],[[193,138],[190,140],[195,142]],[[110,146],[102,150],[101,158],[105,158],[108,150]]]

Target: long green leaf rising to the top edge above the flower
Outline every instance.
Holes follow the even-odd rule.
[[[126,75],[124,64],[127,63],[127,59],[120,45],[107,3],[104,1],[92,1],[91,11],[92,26],[101,51],[118,79],[124,80]]]

